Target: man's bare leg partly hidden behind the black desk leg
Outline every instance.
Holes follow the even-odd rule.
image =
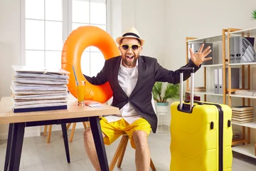
[[[106,135],[102,133],[102,137],[105,138]],[[97,152],[95,148],[95,142],[92,137],[92,130],[91,128],[86,128],[84,133],[84,143],[85,143],[85,151],[87,153],[87,156],[90,158],[90,161],[92,162],[93,167],[95,167],[95,170],[100,171],[100,162],[97,157]]]

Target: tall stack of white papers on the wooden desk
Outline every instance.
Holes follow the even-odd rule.
[[[11,94],[14,113],[66,109],[69,72],[13,66]]]

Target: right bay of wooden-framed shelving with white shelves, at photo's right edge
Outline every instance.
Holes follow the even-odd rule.
[[[256,98],[254,95],[256,91],[254,92],[254,90],[251,90],[251,66],[256,64],[256,61],[253,60],[253,58],[255,58],[255,48],[250,46],[250,43],[254,43],[255,40],[252,38],[246,38],[251,36],[256,36],[256,28],[245,30],[228,28],[228,105],[231,108],[235,107],[232,106],[232,98],[234,97],[242,98],[242,106],[252,106],[250,99]],[[233,93],[231,88],[231,68],[235,66],[242,68],[242,90],[237,90],[237,92]],[[246,88],[245,77],[247,78]],[[238,112],[235,110],[233,111],[233,118],[238,118]],[[251,112],[252,115],[247,116],[245,114],[242,116],[241,113],[242,112],[239,114],[240,119],[233,119],[232,121],[233,125],[242,126],[241,138],[233,140],[233,151],[256,158],[256,144],[250,143],[250,128],[256,128],[256,122],[253,120],[254,113]],[[245,128],[247,128],[247,138],[245,138]]]

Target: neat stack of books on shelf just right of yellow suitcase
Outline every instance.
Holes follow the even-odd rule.
[[[232,121],[234,123],[251,123],[253,120],[252,106],[234,106],[232,108]]]

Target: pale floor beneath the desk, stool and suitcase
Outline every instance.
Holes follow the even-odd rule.
[[[70,147],[70,164],[66,161],[63,137],[60,131],[52,133],[51,142],[46,143],[46,138],[34,137],[24,138],[20,170],[26,171],[55,171],[55,170],[93,170],[90,160],[87,158],[83,146],[83,129],[75,130],[73,142]],[[68,135],[70,134],[70,130]],[[112,160],[120,138],[110,146],[105,146],[108,162]],[[149,147],[151,158],[158,171],[169,170],[170,163],[170,135],[149,135]],[[127,150],[122,162],[122,168],[115,167],[114,170],[136,170],[134,165],[134,149],[127,145]],[[4,167],[6,153],[6,140],[0,140],[0,170]],[[255,171],[256,160],[245,155],[233,153],[233,171]]]

